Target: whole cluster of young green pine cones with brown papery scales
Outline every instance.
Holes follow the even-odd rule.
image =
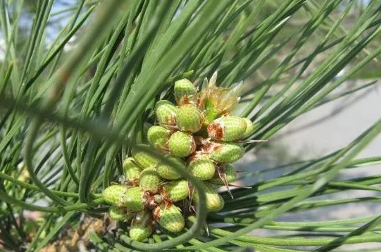
[[[217,87],[215,79],[216,74],[204,81],[200,92],[188,79],[176,81],[177,106],[158,101],[154,110],[157,125],[147,133],[151,148],[202,181],[209,212],[223,209],[224,200],[217,189],[236,180],[231,163],[244,155],[240,143],[254,131],[249,119],[231,115],[239,101],[238,88]],[[133,148],[131,155],[123,162],[125,183],[103,191],[111,205],[109,216],[130,222],[130,238],[139,242],[151,235],[155,224],[173,233],[184,229],[184,215],[195,213],[199,203],[192,184],[141,148]]]

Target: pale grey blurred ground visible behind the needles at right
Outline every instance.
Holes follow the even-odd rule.
[[[353,139],[369,128],[374,122],[381,118],[381,88],[373,86],[367,90],[348,95],[336,101],[329,102],[310,113],[307,113],[279,132],[273,139],[273,146],[285,152],[285,156],[299,159],[311,159],[321,157],[339,148],[345,147]],[[342,109],[343,108],[343,109]],[[338,113],[335,113],[338,112]],[[330,116],[332,115],[333,116]],[[322,119],[323,118],[323,119]],[[322,119],[319,122],[319,119]],[[311,124],[311,122],[319,122]],[[278,147],[276,147],[278,148]],[[273,150],[274,151],[274,150]],[[278,152],[277,150],[276,152]],[[272,150],[269,151],[270,155]],[[274,153],[275,156],[276,153]],[[373,139],[373,142],[367,146],[358,157],[372,157],[381,155],[381,135]],[[357,157],[357,158],[358,158]],[[255,162],[256,160],[256,162]],[[259,161],[259,162],[258,162]],[[251,162],[251,164],[249,164]],[[254,162],[254,163],[253,163]],[[287,164],[287,161],[282,163]],[[238,168],[246,168],[251,171],[262,169],[263,162],[256,159],[254,155],[247,155],[245,159],[238,162]],[[253,168],[256,166],[256,168]],[[272,166],[272,165],[271,165]],[[281,171],[282,172],[282,171]],[[366,166],[362,168],[353,168],[340,173],[341,178],[349,179],[353,177],[375,175],[381,173],[381,166]],[[264,180],[279,175],[279,171],[263,177]],[[257,177],[252,177],[251,182],[258,181]],[[380,192],[373,191],[344,191],[328,196],[316,197],[316,199],[333,198],[353,198],[367,196],[381,196]],[[341,206],[329,206],[311,211],[299,213],[287,213],[283,215],[280,221],[308,222],[317,220],[343,220],[351,217],[364,217],[366,215],[377,215],[381,213],[380,203],[361,203],[344,204]],[[259,229],[251,233],[252,235],[274,235],[274,231]],[[283,234],[292,234],[292,232],[283,232]],[[340,249],[364,249],[380,244],[359,244],[346,245]],[[299,248],[303,249],[303,247]],[[304,248],[307,249],[307,248]],[[310,249],[310,248],[309,248]]]

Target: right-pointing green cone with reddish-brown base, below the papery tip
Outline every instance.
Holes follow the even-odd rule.
[[[246,128],[247,123],[242,117],[220,117],[209,124],[208,135],[216,141],[231,142],[242,139]]]

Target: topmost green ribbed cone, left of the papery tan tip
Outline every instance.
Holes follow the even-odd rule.
[[[180,79],[176,81],[173,90],[177,105],[195,104],[197,100],[197,89],[190,80]]]

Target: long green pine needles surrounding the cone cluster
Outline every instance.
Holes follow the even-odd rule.
[[[360,17],[346,23],[355,1],[80,0],[60,10],[70,18],[48,46],[47,28],[57,14],[54,1],[27,2],[0,3],[6,43],[0,64],[0,244],[6,249],[39,251],[64,226],[76,226],[78,213],[107,213],[101,193],[123,174],[122,160],[132,148],[135,154],[148,151],[150,159],[190,180],[200,207],[177,237],[154,234],[141,243],[130,240],[123,229],[118,237],[91,233],[103,251],[337,251],[342,244],[380,242],[378,216],[330,222],[276,218],[334,204],[379,202],[380,197],[314,197],[353,189],[380,191],[379,175],[351,180],[337,175],[380,164],[378,156],[355,157],[380,133],[381,119],[335,153],[299,162],[289,173],[250,188],[234,188],[233,199],[229,193],[216,196],[224,208],[207,218],[202,183],[184,165],[144,145],[146,130],[154,124],[154,104],[159,99],[175,103],[173,84],[180,79],[202,86],[218,70],[218,86],[244,81],[237,114],[254,122],[249,140],[268,139],[321,104],[372,86],[375,82],[333,94],[351,77],[379,76],[362,72],[381,53],[379,1],[362,6]],[[33,25],[25,34],[21,13],[30,6]],[[74,35],[78,42],[67,50]],[[338,76],[344,67],[344,75]],[[258,146],[248,142],[245,151]],[[26,210],[44,213],[32,234]],[[209,236],[201,235],[205,220]],[[255,229],[297,235],[248,235]]]

